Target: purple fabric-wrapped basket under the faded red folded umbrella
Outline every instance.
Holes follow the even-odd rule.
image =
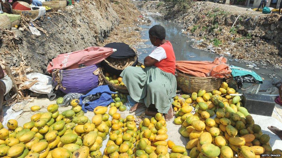
[[[98,75],[93,74],[98,67],[99,65],[90,65],[68,70],[57,69],[52,73],[53,81],[56,88],[65,94],[86,94],[99,85]]]

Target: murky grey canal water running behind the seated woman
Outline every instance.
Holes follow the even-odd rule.
[[[191,47],[195,40],[191,39],[187,34],[182,33],[183,27],[175,22],[168,22],[162,20],[162,16],[159,15],[148,15],[148,18],[152,21],[150,26],[142,25],[142,39],[146,42],[143,43],[141,47],[138,47],[139,61],[144,62],[144,58],[148,56],[155,48],[149,40],[149,28],[153,25],[160,24],[166,29],[166,40],[172,43],[176,60],[198,60],[198,61],[213,61],[216,57],[220,55],[213,52],[208,52],[204,50],[198,50]],[[264,83],[260,86],[260,90],[267,90],[269,87],[274,87],[272,85],[272,79],[276,78],[281,80],[282,72],[279,68],[274,68],[271,65],[264,65],[262,68],[259,63],[254,67],[250,68],[248,63],[241,62],[239,60],[234,60],[232,57],[225,56],[227,58],[227,64],[246,68],[255,71],[258,75],[264,78]]]

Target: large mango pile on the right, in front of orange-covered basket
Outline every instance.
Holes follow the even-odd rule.
[[[240,96],[230,96],[235,93],[223,82],[219,90],[211,93],[199,90],[198,93],[193,92],[191,97],[182,95],[187,104],[175,97],[173,105],[178,111],[174,123],[181,124],[180,134],[189,138],[185,148],[191,150],[191,158],[232,158],[235,155],[257,158],[260,154],[282,154],[279,149],[272,151],[270,137],[261,132],[261,127],[242,107]],[[191,109],[190,105],[194,107],[194,114],[186,111]],[[210,118],[214,115],[214,119]]]

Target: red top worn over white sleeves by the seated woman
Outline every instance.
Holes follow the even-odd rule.
[[[159,47],[162,47],[166,51],[166,58],[156,62],[154,66],[158,67],[164,72],[175,75],[175,54],[171,43],[166,41],[166,43],[160,45]]]

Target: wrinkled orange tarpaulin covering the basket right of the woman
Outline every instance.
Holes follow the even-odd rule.
[[[224,57],[211,61],[176,61],[176,69],[190,76],[224,78],[231,74]]]

